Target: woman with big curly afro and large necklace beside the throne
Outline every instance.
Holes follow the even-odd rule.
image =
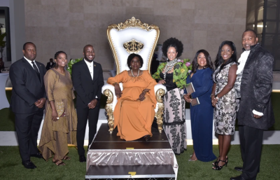
[[[186,83],[188,71],[185,71],[186,67],[183,68],[186,64],[177,59],[183,53],[183,43],[175,38],[167,39],[162,45],[162,53],[167,57],[167,62],[160,64],[153,78],[167,88],[163,127],[172,150],[179,155],[187,148],[185,100],[181,82]]]

